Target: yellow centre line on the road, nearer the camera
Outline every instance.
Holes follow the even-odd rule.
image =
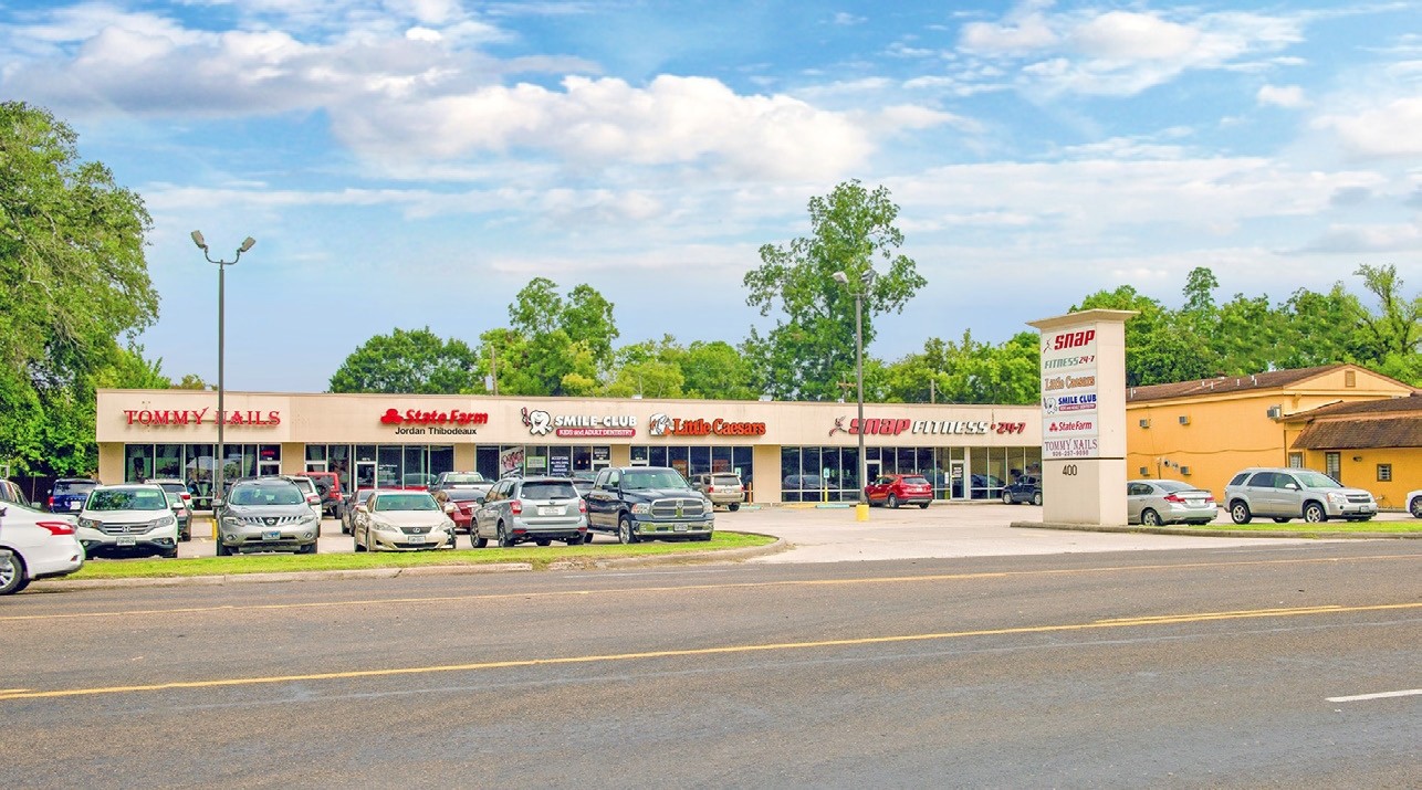
[[[357,669],[350,672],[319,672],[310,675],[277,675],[269,678],[219,678],[212,681],[175,681],[168,683],[149,683],[132,686],[98,686],[88,689],[58,689],[58,691],[6,691],[0,692],[0,702],[9,699],[53,699],[64,696],[94,696],[108,693],[131,693],[165,689],[208,689],[222,686],[253,686],[270,683],[290,683],[300,681],[337,681],[350,678],[391,678],[397,675],[425,675],[431,672],[472,672],[479,669],[506,669],[515,666],[553,666],[566,664],[600,664],[613,661],[641,661],[650,658],[687,658],[701,655],[729,655],[769,651],[796,651],[815,648],[839,648],[857,645],[887,645],[896,642],[926,642],[934,639],[954,639],[963,637],[1001,637],[1014,634],[1049,634],[1062,631],[1086,631],[1095,628],[1128,628],[1145,625],[1173,625],[1185,622],[1207,622],[1219,619],[1246,619],[1267,617],[1301,617],[1318,614],[1342,614],[1365,611],[1413,610],[1422,602],[1408,604],[1375,604],[1368,607],[1300,607],[1288,610],[1246,610],[1226,612],[1197,612],[1176,615],[1155,615],[1125,619],[1096,619],[1092,622],[1075,622],[1064,625],[1027,625],[1018,628],[987,628],[980,631],[944,631],[937,634],[904,634],[897,637],[859,637],[853,639],[820,639],[813,642],[769,642],[761,645],[725,645],[720,648],[690,648],[673,651],[646,651],[609,655],[573,655],[562,658],[529,658],[519,661],[485,661],[479,664],[451,664],[438,666],[401,666],[395,669]]]

